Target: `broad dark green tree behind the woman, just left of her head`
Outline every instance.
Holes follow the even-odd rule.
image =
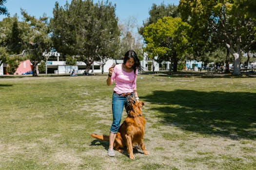
[[[54,47],[62,55],[76,55],[86,64],[88,74],[100,57],[111,57],[118,40],[115,6],[92,0],[72,0],[65,7],[56,2],[51,19]]]

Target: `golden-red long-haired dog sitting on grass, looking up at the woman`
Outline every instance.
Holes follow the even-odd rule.
[[[144,154],[149,154],[143,143],[146,119],[142,115],[142,106],[144,102],[137,102],[131,96],[127,97],[125,110],[128,116],[118,129],[118,133],[114,142],[114,148],[123,153],[123,149],[127,147],[130,159],[135,159],[133,154],[133,146],[138,144]],[[109,141],[109,136],[91,134],[92,137],[99,140]]]

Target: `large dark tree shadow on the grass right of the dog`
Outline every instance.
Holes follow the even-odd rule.
[[[256,138],[256,94],[248,92],[154,91],[141,100],[156,104],[161,123],[206,135]]]

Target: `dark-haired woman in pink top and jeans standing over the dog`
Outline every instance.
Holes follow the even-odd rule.
[[[109,68],[107,85],[112,85],[114,81],[116,82],[112,97],[113,122],[109,134],[109,156],[115,156],[113,144],[118,133],[127,96],[134,96],[137,101],[139,99],[136,88],[138,69],[142,70],[138,56],[133,50],[129,50],[124,54],[123,64]]]

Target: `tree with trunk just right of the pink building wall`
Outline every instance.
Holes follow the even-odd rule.
[[[24,49],[30,62],[32,63],[33,77],[38,76],[37,66],[44,59],[43,52],[50,51],[52,42],[49,37],[48,17],[40,17],[39,19],[29,16],[21,9],[24,17],[24,27],[26,31],[23,41]]]

